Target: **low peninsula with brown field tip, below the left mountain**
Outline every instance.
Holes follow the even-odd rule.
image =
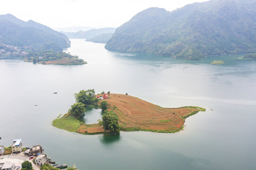
[[[73,56],[65,52],[58,51],[43,51],[31,52],[22,57],[24,61],[39,63],[39,64],[58,64],[58,65],[81,65],[87,64],[83,59],[78,56]]]

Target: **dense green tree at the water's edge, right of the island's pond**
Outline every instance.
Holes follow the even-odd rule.
[[[118,118],[113,111],[106,111],[102,116],[102,124],[105,130],[109,130],[114,134],[120,132],[120,126],[118,124]]]

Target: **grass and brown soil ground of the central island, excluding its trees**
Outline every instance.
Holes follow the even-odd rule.
[[[103,95],[106,94],[104,93]],[[103,103],[106,105],[103,106]],[[112,113],[116,117],[120,131],[176,133],[183,129],[186,118],[199,111],[205,111],[205,109],[196,106],[163,108],[137,97],[130,96],[127,93],[112,93],[108,97],[99,100],[97,105],[100,105],[98,107],[106,110],[106,113]],[[106,113],[103,114],[103,121]],[[98,121],[98,124],[84,124],[71,114],[70,109],[62,118],[54,119],[53,126],[80,134],[108,133],[109,130],[104,128],[104,122],[102,125],[102,121]]]

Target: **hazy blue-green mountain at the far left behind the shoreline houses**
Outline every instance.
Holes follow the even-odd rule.
[[[0,42],[33,51],[62,51],[70,47],[66,35],[32,20],[22,21],[11,14],[0,15]]]

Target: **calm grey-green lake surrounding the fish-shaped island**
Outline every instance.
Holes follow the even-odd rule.
[[[88,62],[78,66],[1,59],[0,145],[22,138],[23,146],[41,144],[53,161],[80,170],[255,169],[255,60],[225,55],[188,61],[112,52],[104,45],[71,39],[66,52]],[[210,64],[219,59],[223,65]],[[80,135],[51,125],[75,102],[74,93],[91,88],[162,107],[207,110],[187,118],[175,134]],[[97,123],[100,111],[88,110],[84,121]]]

